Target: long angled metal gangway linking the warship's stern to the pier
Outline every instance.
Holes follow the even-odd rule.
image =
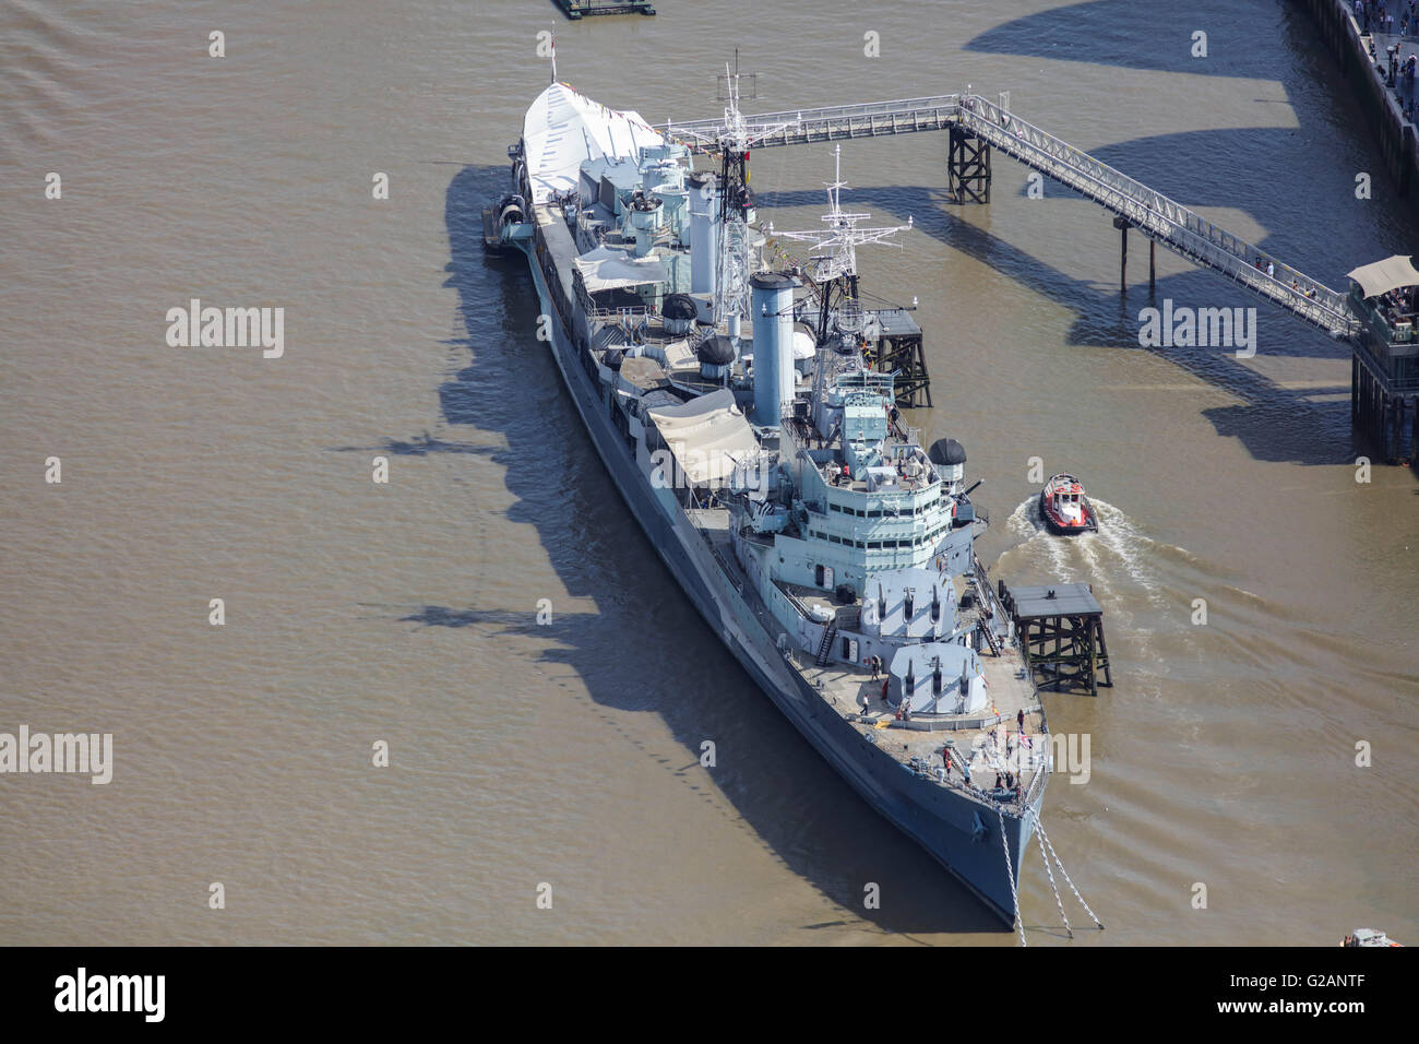
[[[956,128],[1098,203],[1175,254],[1222,273],[1331,337],[1349,339],[1359,331],[1359,322],[1349,312],[1344,294],[1270,259],[1254,243],[1020,119],[1009,111],[1007,104],[993,102],[978,94],[945,94],[864,105],[789,109],[746,119],[755,124],[785,124],[779,132],[759,141],[755,145],[758,149]],[[667,136],[692,142],[694,131],[711,128],[717,122],[671,121],[664,129]],[[1263,267],[1257,267],[1257,259],[1266,259]],[[1267,264],[1273,271],[1266,270]]]

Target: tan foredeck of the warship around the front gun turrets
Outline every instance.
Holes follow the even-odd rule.
[[[724,509],[691,509],[691,521],[700,530],[705,543],[715,553],[721,568],[744,592],[745,601],[753,609],[759,622],[773,634],[778,626],[768,608],[755,595],[748,577],[735,560],[729,537],[729,511]],[[955,578],[958,601],[975,585],[964,577]],[[860,607],[837,605],[824,592],[812,588],[793,587],[793,597],[806,605],[823,605],[837,612],[839,625],[850,624],[851,615]],[[979,619],[979,602],[961,608],[961,621]],[[851,668],[846,663],[819,666],[810,653],[795,649],[789,660],[807,679],[822,697],[840,714],[856,722],[866,743],[877,744],[883,751],[908,768],[938,781],[941,785],[968,791],[983,804],[1003,805],[1019,812],[1039,795],[1049,776],[1049,724],[1044,707],[1020,651],[1002,641],[995,649],[979,652],[981,666],[990,695],[990,707],[985,714],[927,714],[914,713],[910,722],[898,720],[895,707],[881,699],[881,679],[873,680],[871,670]],[[1019,712],[1025,712],[1026,749],[1010,758],[1010,768],[1017,763],[1020,780],[1017,790],[995,790],[995,776],[1006,770],[1006,750],[1019,743]],[[942,778],[942,750],[952,751],[952,771]],[[961,766],[969,760],[971,784],[966,784]]]

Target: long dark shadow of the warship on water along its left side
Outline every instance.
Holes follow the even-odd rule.
[[[447,425],[502,437],[507,447],[492,450],[491,460],[514,496],[508,520],[526,526],[528,538],[536,535],[568,594],[596,609],[556,615],[543,628],[531,612],[507,605],[420,605],[402,621],[467,628],[470,641],[497,641],[504,631],[545,635],[541,659],[576,672],[597,714],[627,741],[624,756],[658,761],[667,785],[701,791],[707,815],[725,815],[728,801],[735,827],[857,918],[843,925],[894,933],[1006,932],[813,751],[656,557],[589,445],[546,345],[536,339],[539,305],[526,263],[484,254],[482,200],[505,178],[504,168],[470,166],[448,186],[446,286],[458,294],[464,330],[455,345],[465,335],[468,357],[440,388],[440,406]],[[545,696],[585,699],[573,689]],[[646,749],[613,713],[647,710],[664,719],[683,750]],[[717,746],[717,767],[708,774],[698,767],[707,739]],[[614,771],[614,761],[609,764]],[[702,854],[705,865],[721,855]],[[864,909],[870,882],[880,888],[878,909]],[[714,886],[712,879],[704,883]],[[724,899],[734,902],[731,893]],[[802,925],[810,929],[813,939],[822,937],[822,923]]]

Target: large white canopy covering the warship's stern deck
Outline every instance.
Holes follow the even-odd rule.
[[[583,98],[566,84],[552,84],[522,121],[522,146],[532,202],[576,187],[587,159],[639,156],[664,138],[639,112],[616,112]]]

